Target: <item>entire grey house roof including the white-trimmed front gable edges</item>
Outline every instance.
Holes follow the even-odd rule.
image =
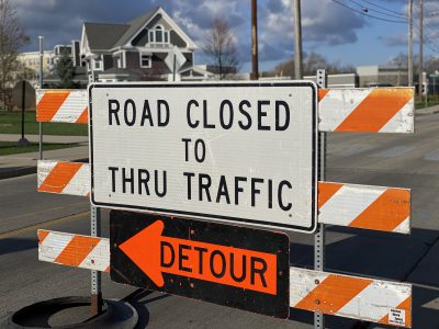
[[[142,16],[124,24],[85,23],[85,32],[90,49],[110,50],[126,45],[157,13],[162,13],[168,16],[161,7],[157,7]],[[168,20],[172,19],[168,16]],[[178,33],[183,34],[184,37],[189,38],[189,36],[187,36],[176,24],[175,29],[178,30]],[[193,43],[190,38],[189,41],[191,44]]]

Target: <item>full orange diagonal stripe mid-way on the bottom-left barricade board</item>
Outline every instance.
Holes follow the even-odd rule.
[[[55,263],[77,268],[99,241],[99,238],[74,236],[67,247],[64,248],[63,252],[56,258]]]

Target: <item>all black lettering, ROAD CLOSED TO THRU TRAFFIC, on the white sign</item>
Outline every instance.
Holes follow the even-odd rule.
[[[236,127],[241,131],[278,131],[284,132],[290,126],[289,104],[283,100],[240,100],[233,102],[222,100],[211,106],[207,100],[189,100],[182,104],[185,111],[185,124],[191,129],[223,129]],[[272,116],[272,117],[270,117]],[[172,109],[166,100],[132,99],[108,101],[108,124],[167,127],[172,122]],[[271,123],[271,124],[270,124]],[[181,138],[181,150],[184,161],[204,162],[206,141],[204,139]],[[190,150],[193,149],[193,155]],[[138,194],[154,197],[166,197],[169,191],[169,174],[166,170],[150,168],[108,167],[111,174],[112,193]],[[222,205],[250,205],[289,212],[292,208],[293,183],[272,178],[247,175],[216,175],[206,172],[183,171],[182,182],[185,186],[184,198],[217,203]]]

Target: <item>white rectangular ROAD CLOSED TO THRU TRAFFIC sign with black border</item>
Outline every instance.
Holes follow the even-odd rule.
[[[94,83],[97,206],[312,232],[312,82]]]

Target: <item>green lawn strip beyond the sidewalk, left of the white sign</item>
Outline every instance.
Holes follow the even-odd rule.
[[[38,123],[35,111],[26,111],[24,115],[24,133],[38,135]],[[44,123],[44,135],[87,136],[86,124]],[[21,112],[0,111],[0,134],[21,134]]]

